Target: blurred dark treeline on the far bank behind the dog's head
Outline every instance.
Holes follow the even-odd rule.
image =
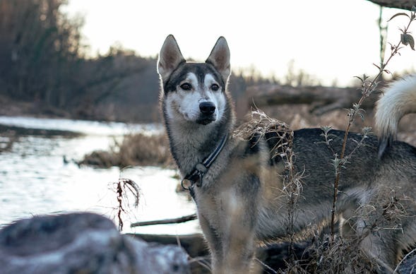
[[[63,13],[66,2],[0,0],[0,95],[33,102],[40,114],[158,121],[156,59],[120,45],[88,57],[83,18]],[[274,81],[255,70],[234,73],[230,90],[246,108],[248,85]]]

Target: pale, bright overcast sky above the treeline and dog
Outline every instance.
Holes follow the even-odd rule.
[[[177,39],[185,58],[205,61],[220,36],[231,51],[232,69],[255,67],[263,76],[284,78],[288,64],[323,85],[349,85],[354,76],[378,73],[379,6],[366,0],[69,0],[64,11],[83,16],[90,53],[121,44],[141,56],[157,56],[165,37]],[[383,9],[387,41],[397,44],[408,22]],[[410,31],[416,30],[416,22]],[[415,37],[416,38],[416,37]],[[386,54],[390,49],[386,50]],[[387,69],[415,71],[416,52],[400,51]]]

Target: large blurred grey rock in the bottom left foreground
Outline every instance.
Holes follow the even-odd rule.
[[[35,216],[0,230],[1,273],[189,273],[179,246],[148,244],[94,213]]]

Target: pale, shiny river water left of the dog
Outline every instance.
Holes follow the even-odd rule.
[[[93,150],[106,150],[123,134],[160,133],[155,124],[128,125],[69,119],[0,117],[0,125],[13,127],[0,133],[0,148],[13,136],[8,150],[0,149],[0,227],[13,220],[33,215],[89,211],[115,220],[117,215],[116,183],[119,177],[138,184],[141,196],[138,207],[133,196],[124,201],[124,232],[152,234],[187,234],[198,232],[195,221],[178,225],[155,225],[130,228],[131,222],[182,217],[195,213],[195,205],[186,195],[175,192],[177,171],[160,167],[118,167],[97,169],[78,167],[74,160]],[[20,133],[19,128],[45,130],[44,133]],[[70,131],[78,135],[54,133]]]

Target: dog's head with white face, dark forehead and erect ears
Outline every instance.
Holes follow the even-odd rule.
[[[230,77],[230,49],[220,37],[205,63],[186,62],[169,35],[158,60],[167,119],[207,125],[219,121],[225,111],[225,88]]]

